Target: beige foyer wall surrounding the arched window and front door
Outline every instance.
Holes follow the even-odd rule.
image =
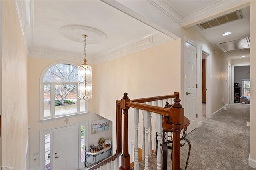
[[[64,122],[65,118],[61,118],[54,121],[48,122],[39,122],[40,120],[40,76],[42,71],[47,68],[50,64],[56,62],[56,60],[41,59],[41,58],[30,58],[28,57],[28,124],[30,125],[29,132],[29,160],[30,160],[30,169],[36,168],[39,166],[40,161],[34,161],[34,158],[39,157],[38,155],[34,156],[34,153],[40,152],[40,130],[50,130],[53,128],[59,128],[66,126]],[[82,63],[82,62],[81,62]],[[79,63],[80,64],[80,63]],[[74,63],[78,66],[78,63]],[[95,66],[92,65],[94,69]],[[93,74],[93,80],[95,75]],[[95,93],[95,88],[93,89]],[[91,121],[102,119],[101,116],[94,114],[94,103],[96,102],[96,97],[92,97],[91,100],[88,100],[89,114],[82,116],[75,116],[68,118],[68,125],[77,124],[80,122],[88,121],[88,128],[90,130]],[[107,117],[108,118],[108,117]],[[100,132],[98,134],[91,135],[91,132],[88,132],[88,145],[97,144],[100,138],[112,138],[111,130]]]

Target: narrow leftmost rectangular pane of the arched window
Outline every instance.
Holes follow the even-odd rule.
[[[51,85],[44,84],[44,117],[51,116]]]

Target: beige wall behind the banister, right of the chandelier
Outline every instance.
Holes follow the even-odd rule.
[[[115,127],[115,101],[121,99],[124,92],[130,99],[180,92],[180,40],[97,64],[94,75],[94,97],[99,103],[95,106],[96,113],[112,120]],[[130,140],[134,140],[135,132],[133,112],[130,109],[128,114]],[[113,128],[114,134],[116,130]],[[139,144],[141,137],[139,135]]]

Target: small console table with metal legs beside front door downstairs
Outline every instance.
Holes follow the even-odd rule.
[[[112,148],[111,146],[105,149],[102,149],[98,152],[86,152],[85,153],[85,162],[84,165],[85,167],[93,166],[105,158],[108,158],[112,153]]]

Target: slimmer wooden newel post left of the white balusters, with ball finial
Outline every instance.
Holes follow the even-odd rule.
[[[126,106],[126,102],[130,102],[129,97],[127,96],[127,93],[124,93],[124,97],[121,99],[121,108],[124,112],[124,152],[121,156],[122,166],[119,168],[120,170],[130,170],[131,164],[130,160],[131,157],[129,155],[128,151],[128,110],[130,107]]]

